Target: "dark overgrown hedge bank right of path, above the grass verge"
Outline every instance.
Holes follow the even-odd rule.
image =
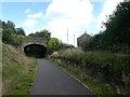
[[[53,54],[52,58],[55,57]],[[130,92],[130,55],[110,52],[79,52],[76,48],[60,51],[56,58],[67,65],[83,68],[93,78],[109,83],[115,88],[123,88],[122,94]],[[121,91],[120,91],[121,92]]]

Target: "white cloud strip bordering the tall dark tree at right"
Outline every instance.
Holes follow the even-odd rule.
[[[110,15],[113,13],[113,11],[116,10],[117,4],[121,1],[123,1],[123,0],[106,0],[104,2],[102,13],[100,14],[100,16],[98,17],[98,20],[96,20],[96,25],[98,25],[99,30],[104,29],[104,28],[101,28],[102,22],[107,20],[106,16]]]

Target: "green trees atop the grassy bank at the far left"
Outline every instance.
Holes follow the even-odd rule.
[[[23,42],[23,37],[25,36],[24,29],[15,28],[13,22],[8,20],[1,22],[2,24],[2,42],[18,46]]]

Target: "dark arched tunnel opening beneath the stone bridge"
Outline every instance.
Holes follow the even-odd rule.
[[[43,58],[46,57],[47,47],[40,44],[29,44],[24,47],[24,52],[29,57]]]

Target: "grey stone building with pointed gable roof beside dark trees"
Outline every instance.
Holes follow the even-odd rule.
[[[92,38],[90,34],[87,33],[87,31],[81,34],[79,38],[77,38],[77,47],[81,47],[81,44],[83,43],[83,41],[88,40]]]

